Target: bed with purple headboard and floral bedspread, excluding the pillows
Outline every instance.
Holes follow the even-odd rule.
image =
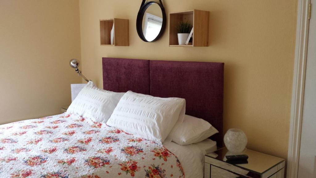
[[[223,63],[102,64],[104,90],[184,98],[186,114],[210,122],[219,131],[210,139],[222,146]],[[76,114],[0,125],[0,143],[0,177],[203,177],[198,144],[162,145]]]

